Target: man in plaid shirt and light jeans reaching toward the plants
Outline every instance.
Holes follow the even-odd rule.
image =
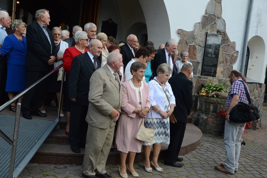
[[[249,103],[245,88],[241,82],[242,73],[238,70],[233,70],[230,73],[230,83],[232,84],[231,89],[228,93],[226,101],[226,121],[224,127],[224,146],[226,150],[225,163],[221,163],[220,166],[215,166],[215,169],[233,175],[238,170],[238,159],[240,154],[241,142],[240,138],[243,132],[245,123],[230,122],[229,113],[232,108],[242,101]],[[246,84],[245,84],[246,85]],[[248,92],[249,88],[246,85]],[[226,97],[225,97],[226,98]]]

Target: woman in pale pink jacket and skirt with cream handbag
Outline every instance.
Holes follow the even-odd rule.
[[[122,84],[122,117],[118,120],[116,132],[116,145],[120,151],[120,176],[127,178],[126,157],[129,153],[127,170],[134,177],[139,175],[134,170],[134,157],[136,153],[141,152],[142,141],[134,138],[138,131],[142,118],[145,118],[149,108],[149,89],[148,84],[143,82],[146,66],[143,62],[134,62],[130,71],[133,78]],[[144,121],[142,121],[144,124]]]

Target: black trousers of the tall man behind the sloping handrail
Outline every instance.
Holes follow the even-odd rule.
[[[47,73],[48,72],[27,71],[25,89],[34,84],[40,78],[44,77]],[[22,114],[40,112],[39,108],[44,102],[47,86],[47,79],[45,79],[33,89],[24,94],[21,105]]]

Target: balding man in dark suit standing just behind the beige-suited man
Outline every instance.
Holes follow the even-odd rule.
[[[85,32],[83,32],[85,33]],[[88,110],[88,92],[90,78],[100,61],[96,59],[101,54],[102,42],[93,39],[89,43],[89,50],[85,54],[73,58],[69,75],[69,99],[71,103],[70,132],[71,151],[80,153],[85,148],[88,124],[85,121]]]

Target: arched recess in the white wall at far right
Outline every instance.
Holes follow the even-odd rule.
[[[249,65],[247,71],[247,78],[252,80],[261,81],[261,77],[264,76],[266,66],[264,66],[265,57],[265,43],[262,37],[253,36],[248,41],[248,46],[250,50],[249,54]],[[262,72],[260,72],[262,71]]]

